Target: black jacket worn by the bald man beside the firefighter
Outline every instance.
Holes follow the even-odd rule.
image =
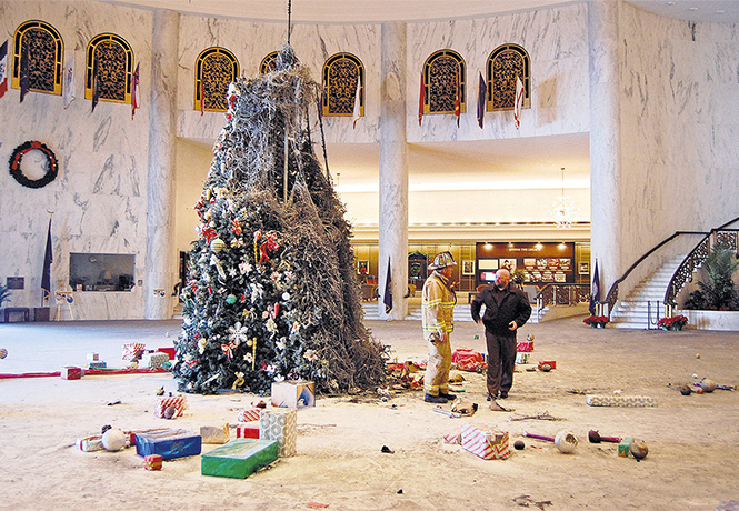
[[[529,297],[513,284],[500,291],[503,293],[500,305],[493,298],[495,283],[486,287],[472,300],[472,319],[477,322],[480,319],[480,309],[485,303],[485,315],[482,323],[486,330],[496,335],[516,337],[516,330],[509,330],[511,321],[516,321],[518,328],[521,328],[531,317],[531,304]]]

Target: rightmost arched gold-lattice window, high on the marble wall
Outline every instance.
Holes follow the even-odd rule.
[[[487,110],[512,110],[516,77],[523,86],[523,108],[531,107],[531,66],[529,53],[518,44],[501,44],[488,58]]]

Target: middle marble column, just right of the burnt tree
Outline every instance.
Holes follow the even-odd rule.
[[[402,320],[408,312],[408,144],[406,141],[406,23],[382,23],[380,111],[380,318]],[[392,311],[382,302],[392,269]]]

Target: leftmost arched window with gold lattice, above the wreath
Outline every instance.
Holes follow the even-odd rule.
[[[28,90],[61,96],[63,59],[64,42],[57,29],[43,21],[24,22],[13,37],[11,87],[20,89],[22,63],[28,66]]]

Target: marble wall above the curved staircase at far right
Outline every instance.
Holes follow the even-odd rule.
[[[626,270],[676,231],[708,231],[739,216],[739,26],[695,24],[623,3],[620,33],[623,229],[616,249]]]

